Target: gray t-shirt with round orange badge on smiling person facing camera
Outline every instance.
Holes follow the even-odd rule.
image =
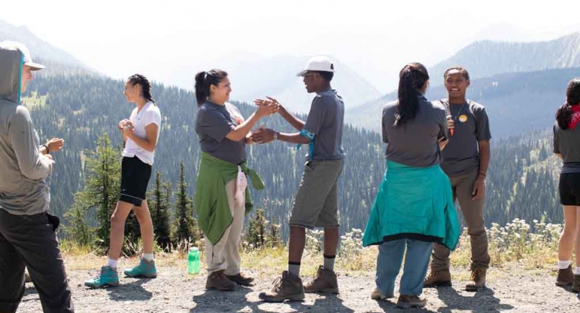
[[[455,122],[453,136],[443,150],[441,168],[447,175],[460,175],[479,170],[479,141],[489,141],[489,120],[485,107],[467,100],[465,104],[449,104],[440,100]]]

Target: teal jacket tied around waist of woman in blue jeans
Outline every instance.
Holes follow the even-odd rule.
[[[451,184],[441,167],[413,168],[387,161],[386,168],[368,218],[363,246],[416,239],[455,249],[460,225]]]

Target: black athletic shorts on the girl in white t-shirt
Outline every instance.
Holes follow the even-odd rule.
[[[138,157],[123,157],[119,200],[141,207],[151,177],[151,166]]]

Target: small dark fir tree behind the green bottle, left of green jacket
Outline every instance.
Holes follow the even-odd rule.
[[[187,195],[187,182],[183,162],[180,165],[179,184],[175,195],[175,220],[173,220],[173,242],[183,240],[198,241],[196,220],[193,216],[193,200]]]

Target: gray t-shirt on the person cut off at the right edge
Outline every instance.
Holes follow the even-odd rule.
[[[580,172],[580,125],[562,130],[554,123],[554,153],[562,154],[562,174]]]

